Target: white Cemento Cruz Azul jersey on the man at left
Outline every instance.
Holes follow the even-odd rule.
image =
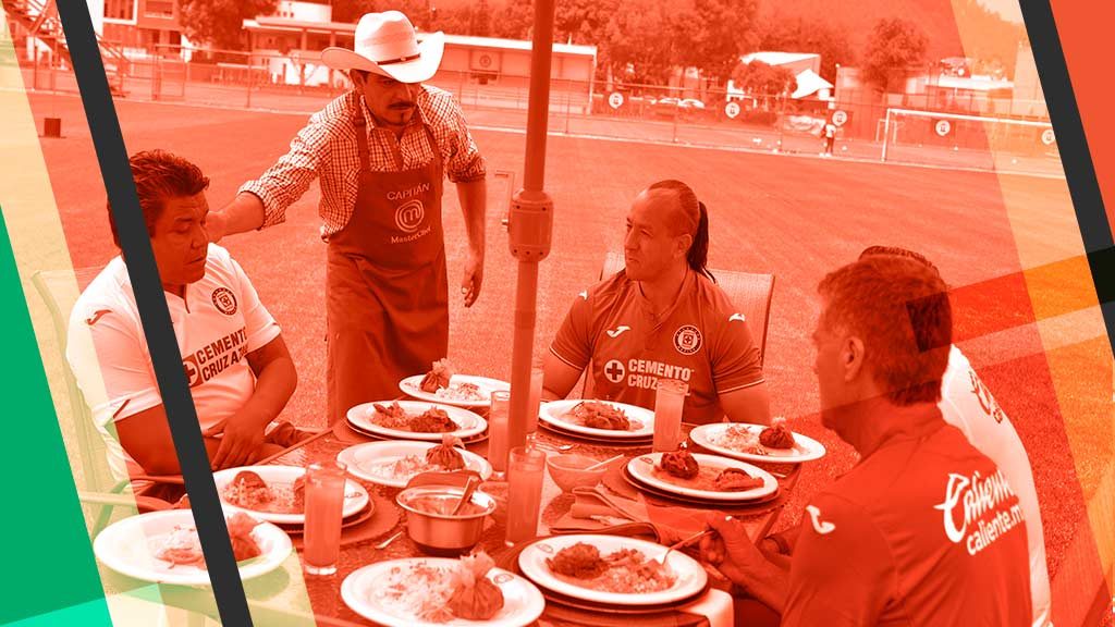
[[[202,430],[243,407],[255,387],[245,356],[277,338],[279,325],[229,251],[210,244],[205,277],[185,298],[166,293]],[[91,341],[90,341],[91,339]],[[105,436],[109,465],[127,476],[124,452],[108,426],[163,403],[124,260],[116,257],[89,283],[70,314],[67,359],[94,422]]]

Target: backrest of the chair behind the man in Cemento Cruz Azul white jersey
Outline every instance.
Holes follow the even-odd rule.
[[[80,457],[86,490],[107,491],[116,482],[108,467],[105,441],[93,421],[93,412],[77,385],[77,378],[66,359],[66,347],[69,339],[69,317],[80,290],[100,272],[100,268],[80,268],[74,270],[50,270],[36,272],[31,282],[50,311],[55,335],[58,339],[58,350],[61,354],[62,373],[66,378],[67,397],[70,405],[69,415],[59,413],[59,421],[68,421],[70,431],[77,438],[78,456]]]

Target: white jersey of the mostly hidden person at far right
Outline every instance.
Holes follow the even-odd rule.
[[[1026,447],[1010,418],[983,386],[968,358],[956,346],[949,351],[949,367],[941,379],[939,404],[944,421],[963,432],[968,442],[999,466],[1026,512],[1030,549],[1030,594],[1034,624],[1049,623],[1049,571],[1046,567],[1041,511],[1034,486],[1034,472]]]

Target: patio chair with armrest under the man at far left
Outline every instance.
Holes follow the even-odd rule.
[[[125,491],[133,482],[148,482],[151,485],[176,483],[182,484],[182,476],[152,476],[133,474],[128,479],[117,479],[108,467],[107,446],[99,431],[94,425],[93,412],[77,385],[77,378],[66,359],[69,315],[76,302],[75,283],[78,290],[91,281],[99,268],[81,268],[75,270],[40,271],[31,277],[35,289],[39,292],[50,319],[54,322],[55,336],[58,340],[58,351],[61,357],[62,375],[66,379],[66,396],[69,402],[68,415],[59,413],[62,433],[72,433],[77,444],[76,454],[80,463],[84,481],[79,485],[78,498],[84,504],[98,508],[93,533],[96,536],[110,520],[116,508],[128,508],[133,512],[153,511],[171,507],[166,501],[146,496],[143,491],[132,495]],[[72,455],[75,451],[70,451]]]

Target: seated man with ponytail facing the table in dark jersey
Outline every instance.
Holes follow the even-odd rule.
[[[590,367],[593,396],[653,409],[659,378],[689,385],[682,419],[769,423],[759,349],[706,268],[708,211],[680,181],[642,191],[627,218],[627,268],[582,291],[550,347],[547,399]]]

